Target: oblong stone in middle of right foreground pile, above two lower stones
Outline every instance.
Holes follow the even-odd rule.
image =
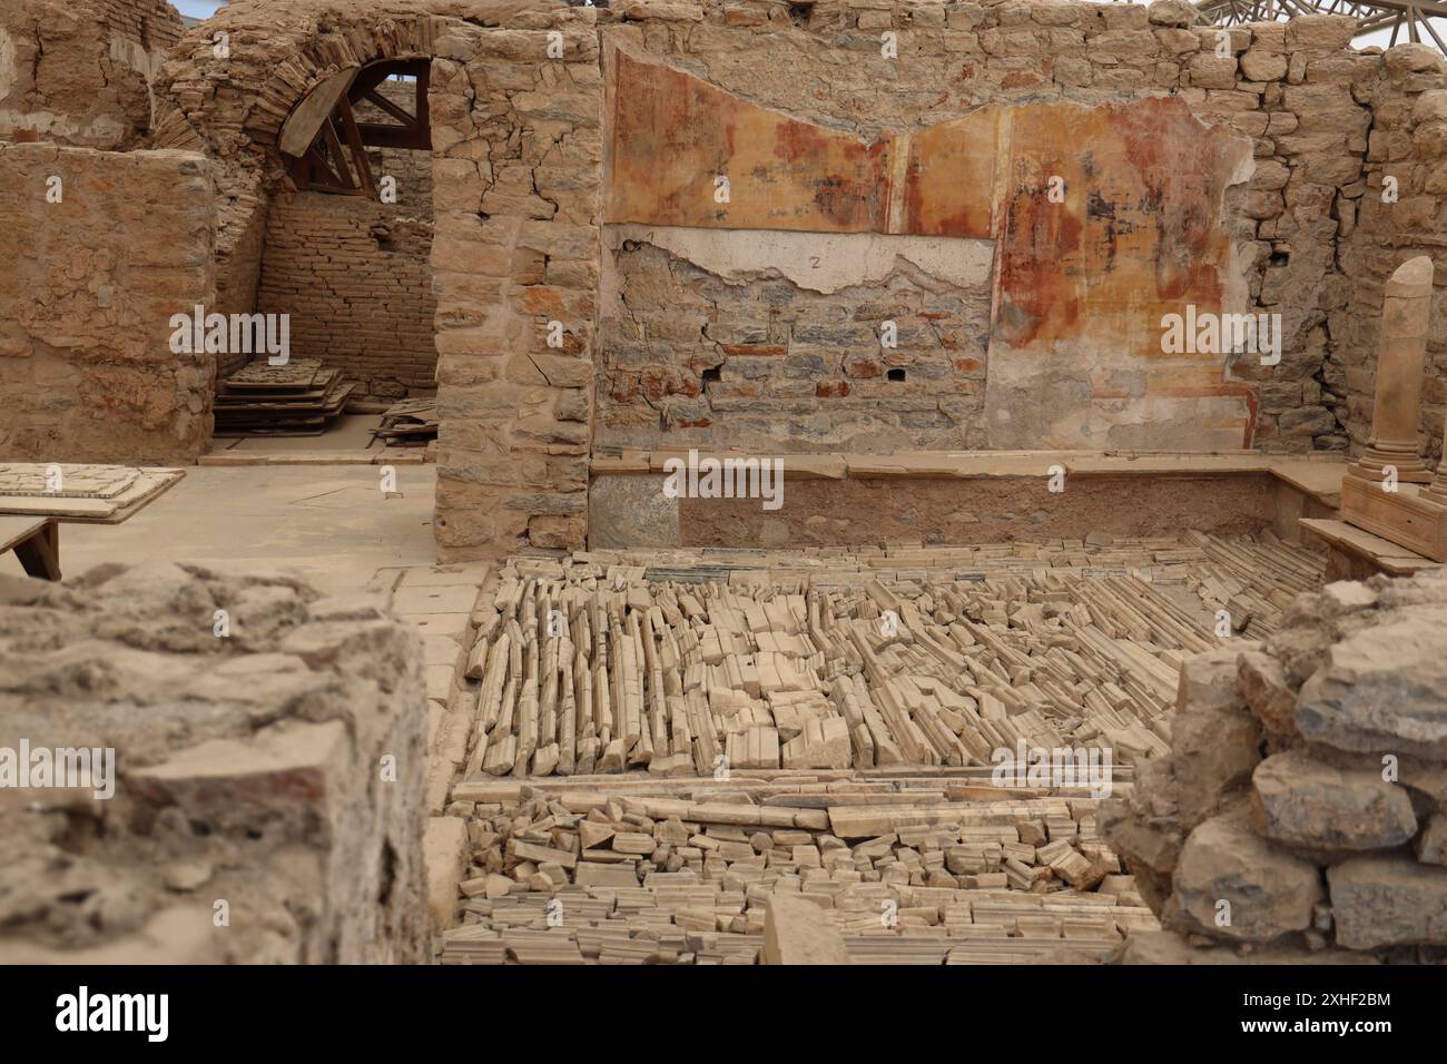
[[[1417,834],[1406,789],[1380,773],[1343,772],[1299,751],[1256,766],[1266,837],[1323,850],[1385,850]]]

